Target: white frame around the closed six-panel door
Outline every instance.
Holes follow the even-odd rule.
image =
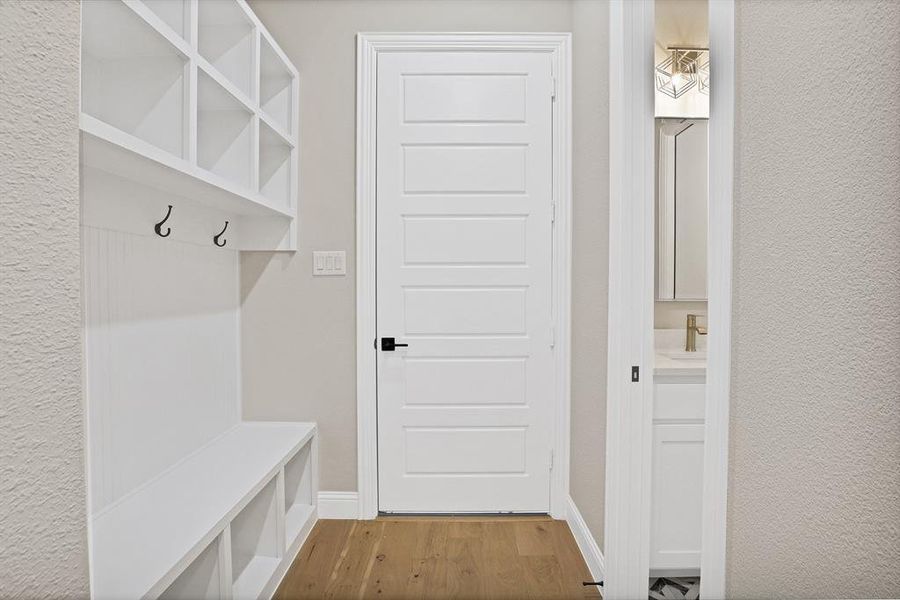
[[[359,518],[378,514],[375,350],[375,102],[378,54],[468,50],[546,52],[555,81],[553,103],[553,319],[555,331],[554,460],[550,514],[566,516],[569,496],[570,307],[572,239],[571,34],[360,33],[356,54],[356,411]]]

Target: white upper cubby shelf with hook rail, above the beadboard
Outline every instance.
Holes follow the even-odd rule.
[[[172,239],[295,250],[298,92],[243,0],[86,0],[82,173],[111,193],[85,224],[152,235],[171,204]]]

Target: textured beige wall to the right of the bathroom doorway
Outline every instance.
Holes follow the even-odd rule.
[[[737,4],[728,592],[900,593],[900,2]]]

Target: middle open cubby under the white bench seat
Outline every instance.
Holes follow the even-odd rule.
[[[281,562],[277,480],[271,480],[231,522],[234,597],[257,598]]]

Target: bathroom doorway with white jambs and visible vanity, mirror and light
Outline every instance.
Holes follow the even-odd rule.
[[[658,44],[655,9],[676,4],[705,3],[610,6],[607,598],[652,597],[667,577],[671,593],[725,593],[734,3],[701,7],[708,44]]]

